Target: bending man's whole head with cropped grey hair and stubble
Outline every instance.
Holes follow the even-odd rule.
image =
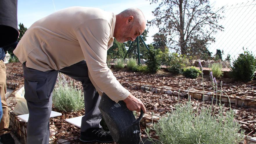
[[[128,8],[115,18],[114,37],[118,42],[134,41],[146,28],[146,19],[138,8]]]

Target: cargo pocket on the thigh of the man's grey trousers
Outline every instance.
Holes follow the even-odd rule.
[[[49,100],[47,73],[24,71],[25,99],[31,102]]]

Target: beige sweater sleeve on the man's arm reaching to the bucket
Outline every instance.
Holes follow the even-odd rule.
[[[86,21],[75,29],[83,51],[90,79],[98,91],[106,93],[113,101],[124,100],[130,94],[107,67],[107,45],[111,35],[111,24],[105,19]]]

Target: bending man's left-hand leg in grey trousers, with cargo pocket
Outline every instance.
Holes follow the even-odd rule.
[[[27,68],[23,63],[25,99],[29,109],[27,144],[49,143],[49,118],[52,107],[52,91],[58,71],[42,72]]]

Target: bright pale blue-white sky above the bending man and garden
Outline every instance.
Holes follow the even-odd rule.
[[[253,0],[210,0],[213,8],[227,6],[224,11],[225,18],[219,23],[225,28],[223,32],[215,35],[216,42],[209,45],[209,50],[216,53],[216,49],[221,49],[224,56],[230,54],[237,57],[242,52],[241,47],[248,47],[256,55],[256,48],[253,48],[256,36],[255,16],[256,2]],[[120,13],[126,8],[135,7],[143,11],[146,20],[154,18],[152,11],[158,6],[146,0],[18,0],[18,24],[23,23],[29,28],[38,19],[45,17],[55,11],[71,6],[95,7],[105,11]],[[255,19],[255,20],[254,20]],[[146,43],[152,42],[152,35],[158,32],[157,28],[149,29]]]

